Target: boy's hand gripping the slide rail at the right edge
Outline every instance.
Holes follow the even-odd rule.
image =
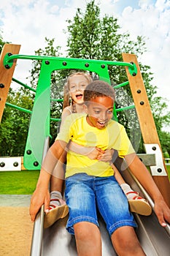
[[[155,201],[154,210],[162,227],[166,227],[166,222],[170,224],[170,209],[164,200]]]

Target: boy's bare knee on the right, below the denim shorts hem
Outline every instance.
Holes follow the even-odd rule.
[[[144,256],[145,253],[134,231],[134,227],[119,227],[112,233],[112,245],[121,256]]]

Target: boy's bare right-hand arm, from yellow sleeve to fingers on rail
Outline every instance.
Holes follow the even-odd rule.
[[[140,184],[146,189],[150,197],[155,203],[155,214],[158,217],[160,224],[165,227],[166,222],[170,223],[170,209],[163,200],[163,196],[152,179],[147,167],[142,163],[136,154],[125,156],[125,162],[131,170],[131,173],[138,179]]]

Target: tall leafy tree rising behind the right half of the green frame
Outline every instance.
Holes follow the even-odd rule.
[[[137,37],[135,41],[130,39],[129,34],[121,34],[117,18],[104,15],[100,18],[100,9],[95,0],[87,4],[86,10],[77,9],[73,20],[67,20],[69,26],[66,33],[68,56],[81,59],[105,59],[111,61],[123,61],[122,53],[134,53],[141,56],[146,50],[143,37]],[[152,99],[156,93],[156,87],[152,87],[152,73],[150,67],[140,64],[144,83]],[[123,83],[127,80],[125,69],[109,66],[109,77],[112,85]],[[117,108],[123,108],[131,102],[131,90],[128,86],[116,91]],[[130,116],[130,118],[129,118]],[[131,137],[136,150],[142,151],[142,143],[139,145],[141,132],[135,110],[117,113],[118,120],[123,124]]]

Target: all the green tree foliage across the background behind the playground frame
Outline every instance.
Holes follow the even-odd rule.
[[[122,53],[134,53],[136,56],[142,56],[146,51],[144,37],[136,37],[131,40],[130,34],[121,33],[117,18],[104,15],[101,18],[99,7],[95,4],[95,0],[90,1],[85,12],[80,8],[77,9],[76,15],[72,20],[67,20],[68,26],[65,33],[67,39],[67,57],[80,59],[104,59],[111,61],[123,61]],[[55,39],[47,39],[45,50],[39,48],[35,51],[38,56],[62,56],[61,46],[54,46]],[[0,47],[2,38],[0,37]],[[3,44],[3,42],[2,42]],[[1,48],[0,48],[1,49]],[[162,132],[164,126],[169,124],[169,113],[167,113],[167,105],[161,97],[155,97],[157,87],[152,85],[153,74],[150,72],[149,66],[139,63],[144,85],[147,90],[147,96],[152,108],[155,124],[158,129],[158,135],[161,140],[163,151],[170,151],[169,133]],[[41,69],[41,61],[33,61],[31,76],[32,88],[36,89]],[[63,98],[63,84],[65,78],[71,70],[54,71],[51,74],[51,98]],[[94,79],[98,78],[97,74],[93,74]],[[112,86],[125,82],[127,75],[123,67],[109,67],[109,76]],[[131,90],[128,86],[116,90],[117,100],[116,108],[123,108],[132,105]],[[22,97],[21,97],[22,96]],[[22,108],[32,108],[34,97],[26,91],[26,97],[23,97],[23,91],[14,94],[9,92],[8,102],[20,105]],[[51,101],[51,117],[60,118],[62,112],[62,103]],[[125,126],[129,137],[136,151],[142,152],[142,137],[139,127],[139,121],[135,110],[126,110],[117,113],[118,121]],[[4,155],[22,155],[26,143],[28,132],[28,123],[30,116],[27,113],[19,113],[18,110],[5,108],[4,116],[1,123],[0,150]],[[50,133],[52,138],[56,137],[58,132],[58,123],[52,121],[50,124]],[[51,141],[53,143],[53,140]]]

